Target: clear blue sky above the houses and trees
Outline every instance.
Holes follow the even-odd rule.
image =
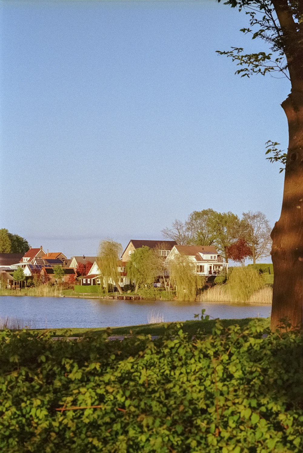
[[[287,79],[235,76],[215,51],[264,49],[204,1],[2,1],[0,227],[94,255],[161,239],[194,210],[279,219]]]

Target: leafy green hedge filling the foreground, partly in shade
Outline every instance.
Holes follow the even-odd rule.
[[[177,327],[122,342],[1,332],[0,451],[303,451],[300,335]]]

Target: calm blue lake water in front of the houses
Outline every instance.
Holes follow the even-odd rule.
[[[167,302],[160,300],[73,299],[68,297],[0,296],[0,318],[7,316],[35,321],[36,328],[96,328],[146,324],[148,314],[158,312],[164,320],[186,321],[195,313],[210,318],[267,318],[271,305]],[[32,324],[33,325],[33,324]]]

